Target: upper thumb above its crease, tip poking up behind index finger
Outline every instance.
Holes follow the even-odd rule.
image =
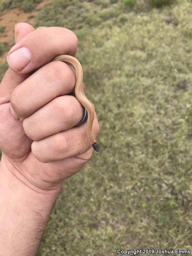
[[[28,23],[15,24],[15,43],[19,42],[23,37],[34,31]],[[30,74],[19,75],[15,73],[11,68],[6,71],[3,80],[0,84],[0,104],[10,101],[11,93],[17,85],[22,83]]]

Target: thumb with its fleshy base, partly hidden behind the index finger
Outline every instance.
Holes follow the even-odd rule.
[[[18,23],[15,26],[15,42],[35,29],[27,23]],[[31,148],[31,140],[25,135],[22,123],[13,118],[10,112],[10,98],[12,91],[21,84],[30,73],[19,75],[8,68],[0,84],[0,148],[10,158],[20,158],[26,155]]]

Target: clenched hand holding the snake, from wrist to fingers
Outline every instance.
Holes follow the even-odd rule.
[[[65,28],[34,29],[18,23],[10,68],[0,84],[1,162],[28,187],[54,190],[78,172],[92,156],[74,96],[75,72],[60,54],[75,56],[77,38]],[[95,114],[94,136],[99,124]]]

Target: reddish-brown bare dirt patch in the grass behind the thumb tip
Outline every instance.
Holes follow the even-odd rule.
[[[27,22],[33,26],[34,17],[39,12],[39,9],[44,7],[45,4],[48,4],[51,2],[52,0],[42,1],[40,4],[37,4],[35,10],[30,13],[22,12],[19,9],[11,9],[5,12],[0,17],[0,27],[1,26],[5,27],[4,32],[0,33],[0,42],[7,42],[10,49],[15,43],[15,39],[14,39],[15,24],[19,22]],[[6,60],[7,53],[8,52],[5,52],[2,56],[0,56],[0,62],[3,62]]]

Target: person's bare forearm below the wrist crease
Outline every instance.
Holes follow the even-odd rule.
[[[0,162],[0,256],[36,255],[60,189],[29,188]]]

